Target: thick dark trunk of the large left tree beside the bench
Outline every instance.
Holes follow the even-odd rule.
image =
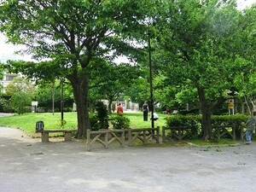
[[[89,79],[87,75],[83,78],[71,78],[70,82],[73,86],[73,96],[77,105],[78,132],[76,138],[86,138],[87,129],[90,129],[89,119]]]

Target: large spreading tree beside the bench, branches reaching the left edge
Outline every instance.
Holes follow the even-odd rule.
[[[131,54],[129,39],[146,31],[143,20],[154,6],[151,0],[4,1],[0,30],[9,42],[26,44],[23,52],[40,61],[12,62],[9,69],[34,79],[68,79],[77,104],[77,137],[86,137],[90,68],[102,58]]]

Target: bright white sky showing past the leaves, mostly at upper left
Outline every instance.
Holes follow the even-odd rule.
[[[245,9],[252,3],[256,3],[256,0],[237,0],[238,9]],[[0,33],[0,55],[14,55],[15,51],[22,49],[22,46],[14,46],[12,44],[6,44],[6,38]],[[26,61],[30,60],[29,55],[23,56]],[[124,60],[126,61],[126,60]]]

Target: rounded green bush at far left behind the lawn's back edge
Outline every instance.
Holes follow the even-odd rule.
[[[10,106],[15,113],[26,113],[26,107],[31,106],[32,98],[25,92],[15,92],[10,99]],[[31,108],[30,108],[31,110]]]

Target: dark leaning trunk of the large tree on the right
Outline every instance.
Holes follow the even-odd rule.
[[[212,133],[212,120],[211,120],[211,110],[207,103],[207,99],[205,96],[205,91],[202,87],[198,87],[198,95],[201,103],[201,113],[202,113],[202,132],[203,132],[203,140],[214,141],[213,133]]]

